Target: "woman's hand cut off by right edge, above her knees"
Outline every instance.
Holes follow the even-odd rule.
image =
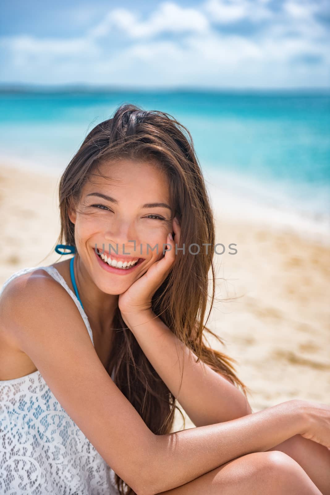
[[[330,405],[310,400],[299,400],[305,419],[300,435],[330,448]]]

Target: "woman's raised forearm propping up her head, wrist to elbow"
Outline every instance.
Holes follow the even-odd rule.
[[[144,354],[196,426],[250,414],[244,394],[197,356],[151,310],[123,314]],[[185,354],[183,379],[178,394]],[[178,357],[179,356],[179,357]]]

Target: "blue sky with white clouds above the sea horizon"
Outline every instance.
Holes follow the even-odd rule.
[[[328,0],[2,0],[0,83],[329,88]]]

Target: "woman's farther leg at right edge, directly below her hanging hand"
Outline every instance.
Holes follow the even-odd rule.
[[[267,450],[280,450],[294,459],[308,474],[323,495],[330,495],[330,450],[308,440],[301,435],[294,435],[285,442]]]

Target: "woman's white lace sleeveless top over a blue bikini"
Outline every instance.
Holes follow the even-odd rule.
[[[94,346],[87,315],[56,268],[23,268],[5,281],[0,295],[12,279],[40,268],[73,298]],[[38,370],[0,381],[0,495],[117,495],[114,480]]]

